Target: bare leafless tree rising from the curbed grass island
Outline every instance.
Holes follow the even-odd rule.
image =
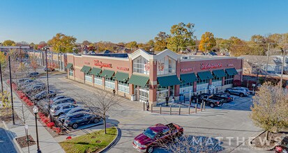
[[[76,94],[77,96],[77,94]],[[120,106],[122,100],[108,92],[103,90],[97,90],[93,92],[89,97],[77,96],[86,107],[88,107],[92,113],[99,115],[104,120],[104,129],[106,133],[106,120],[107,114],[117,106]]]

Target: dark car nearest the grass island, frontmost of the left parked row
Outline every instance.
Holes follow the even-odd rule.
[[[73,113],[69,115],[66,120],[64,120],[63,125],[65,127],[72,127],[73,129],[77,129],[80,125],[97,123],[100,122],[101,118],[98,115],[93,113],[80,111],[78,113]]]

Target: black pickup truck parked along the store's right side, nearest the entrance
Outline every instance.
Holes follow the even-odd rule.
[[[202,100],[203,100],[205,102],[205,104],[210,106],[211,108],[213,108],[215,106],[222,106],[223,103],[225,103],[225,99],[223,99],[221,97],[213,97],[213,95],[208,94],[208,93],[202,93],[202,94],[197,95],[195,97],[196,97],[196,99],[198,99],[198,104],[201,104]]]

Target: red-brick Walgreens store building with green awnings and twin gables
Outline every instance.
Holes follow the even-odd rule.
[[[243,58],[188,56],[169,49],[156,53],[67,54],[68,79],[156,105],[165,97],[189,97],[231,88],[242,80]]]

